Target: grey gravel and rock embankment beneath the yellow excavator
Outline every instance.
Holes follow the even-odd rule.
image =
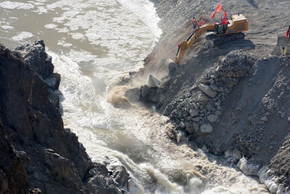
[[[270,54],[277,35],[286,30],[283,15],[290,11],[283,1],[222,2],[228,15],[242,13],[248,18],[245,39],[219,46],[201,39],[168,76],[165,60],[173,58],[176,45],[192,33],[189,19],[209,18],[216,6],[213,1],[194,3],[156,4],[164,34],[137,78],[153,74],[162,80],[142,100],[157,105],[158,112],[205,151],[233,163],[241,159],[237,165],[246,174],[260,176],[272,192],[287,192],[290,65],[289,57]]]

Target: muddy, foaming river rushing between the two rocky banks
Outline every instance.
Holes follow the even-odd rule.
[[[2,2],[0,9],[4,44],[13,48],[45,40],[55,72],[62,76],[65,127],[77,134],[92,160],[109,170],[125,165],[135,180],[131,194],[268,193],[226,160],[193,150],[182,132],[174,144],[168,118],[130,103],[113,106],[125,102],[120,79],[143,67],[162,33],[153,3],[23,0]]]

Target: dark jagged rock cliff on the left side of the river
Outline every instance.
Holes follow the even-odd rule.
[[[0,44],[0,193],[120,193],[106,167],[64,128],[51,100],[60,76],[43,41],[17,50],[24,60]]]

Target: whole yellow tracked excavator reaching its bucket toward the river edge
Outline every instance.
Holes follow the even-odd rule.
[[[204,34],[207,40],[212,40],[214,45],[220,45],[226,42],[230,42],[236,39],[243,39],[245,34],[242,33],[248,30],[248,21],[247,18],[242,15],[233,15],[231,19],[228,20],[227,24],[204,24],[198,27],[190,37],[185,41],[182,41],[178,45],[178,50],[175,56],[175,60],[168,59],[166,61],[166,66],[169,67],[169,71],[175,69],[176,65],[181,63],[181,60],[186,52],[186,50],[193,44],[196,43],[197,39]],[[169,72],[170,73],[170,72]]]

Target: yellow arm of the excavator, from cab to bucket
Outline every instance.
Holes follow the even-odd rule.
[[[204,34],[205,32],[212,32],[214,31],[216,26],[214,24],[205,24],[200,27],[198,27],[191,36],[185,41],[182,41],[178,47],[175,60],[174,62],[176,64],[180,64],[186,50],[193,44],[196,43],[198,37],[201,36],[201,34]]]

